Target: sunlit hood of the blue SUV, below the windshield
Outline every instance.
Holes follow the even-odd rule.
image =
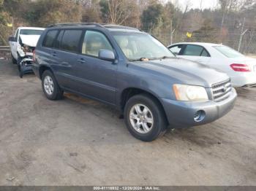
[[[211,87],[214,84],[230,78],[227,74],[222,73],[221,71],[211,69],[203,64],[188,61],[183,58],[168,58],[146,62],[138,61],[134,62],[134,64],[143,67],[144,69],[154,70],[159,74],[176,79],[175,83],[186,85]]]

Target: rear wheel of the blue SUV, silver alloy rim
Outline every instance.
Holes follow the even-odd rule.
[[[49,70],[44,71],[42,74],[42,90],[50,100],[63,98],[63,90],[61,90],[53,73]]]

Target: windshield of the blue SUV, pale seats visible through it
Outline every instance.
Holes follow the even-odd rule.
[[[161,42],[149,34],[112,32],[124,55],[130,61],[142,58],[157,59],[175,57]]]

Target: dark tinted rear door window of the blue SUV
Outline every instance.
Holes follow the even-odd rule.
[[[80,38],[82,30],[66,30],[61,39],[59,49],[69,52],[79,52]]]

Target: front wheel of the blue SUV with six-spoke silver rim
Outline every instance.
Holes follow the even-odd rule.
[[[129,133],[141,141],[153,141],[167,128],[162,107],[154,97],[146,94],[129,98],[124,108],[124,120]]]

